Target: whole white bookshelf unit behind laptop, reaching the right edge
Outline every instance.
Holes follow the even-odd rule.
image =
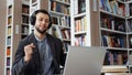
[[[131,2],[70,1],[72,45],[103,46],[107,49],[105,66],[125,67],[125,72],[130,72],[128,66],[131,60]]]

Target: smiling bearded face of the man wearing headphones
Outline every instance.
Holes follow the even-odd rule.
[[[35,29],[40,33],[45,33],[50,24],[50,17],[44,13],[36,14]]]

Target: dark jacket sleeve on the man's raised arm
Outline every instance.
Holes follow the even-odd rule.
[[[12,65],[12,75],[24,75],[24,71],[26,68],[26,63],[24,62],[24,45],[22,41],[19,43],[14,62]]]

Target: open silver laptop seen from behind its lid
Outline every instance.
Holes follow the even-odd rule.
[[[106,49],[69,46],[63,75],[100,75]]]

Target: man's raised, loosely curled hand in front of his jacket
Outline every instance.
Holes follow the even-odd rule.
[[[25,53],[24,61],[26,63],[29,63],[29,61],[32,58],[34,47],[35,47],[35,45],[33,43],[24,46],[24,53]]]

